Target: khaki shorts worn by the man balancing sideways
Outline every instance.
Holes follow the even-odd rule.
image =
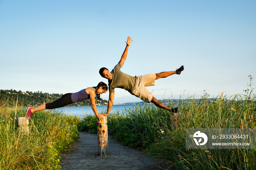
[[[131,92],[132,95],[139,97],[141,100],[150,103],[153,95],[148,92],[146,86],[154,86],[155,85],[155,74],[147,74],[143,76],[135,76],[137,84],[135,89]]]

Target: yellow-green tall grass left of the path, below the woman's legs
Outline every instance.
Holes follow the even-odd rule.
[[[79,139],[78,117],[55,111],[39,111],[29,121],[29,134],[23,135],[16,118],[26,109],[0,107],[0,169],[61,169],[60,153]]]

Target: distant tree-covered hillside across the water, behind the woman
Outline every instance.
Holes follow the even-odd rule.
[[[0,105],[9,105],[16,106],[16,101],[18,97],[18,106],[27,107],[32,106],[36,107],[44,103],[51,103],[58,98],[60,98],[63,94],[58,93],[42,93],[42,92],[22,92],[21,90],[0,90]],[[97,105],[107,105],[108,101],[106,100],[98,100],[95,98],[95,103]],[[68,106],[90,106],[90,100],[83,100],[78,103],[73,103]]]

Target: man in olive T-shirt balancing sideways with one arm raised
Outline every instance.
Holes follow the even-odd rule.
[[[126,42],[126,47],[124,50],[124,53],[118,62],[118,64],[114,67],[114,69],[109,72],[109,70],[105,67],[102,67],[99,70],[99,74],[103,78],[108,79],[109,82],[109,100],[108,100],[108,109],[107,113],[103,114],[108,116],[109,112],[112,108],[113,102],[114,102],[114,89],[115,88],[122,88],[130,92],[132,95],[135,95],[136,97],[139,97],[141,100],[147,102],[147,103],[154,103],[157,107],[166,109],[167,111],[176,113],[178,108],[169,108],[165,104],[163,104],[161,101],[158,101],[151,93],[148,92],[146,86],[153,86],[155,85],[155,80],[159,78],[165,78],[168,76],[171,76],[173,74],[180,74],[181,71],[184,70],[184,66],[181,66],[179,69],[176,71],[171,71],[171,72],[161,72],[157,74],[147,74],[144,76],[129,76],[128,74],[125,74],[121,72],[121,67],[124,65],[124,61],[127,57],[128,53],[128,48],[131,45],[131,40],[130,36],[128,36],[127,42]]]

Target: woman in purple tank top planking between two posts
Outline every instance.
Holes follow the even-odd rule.
[[[89,87],[87,89],[80,90],[76,93],[67,93],[61,96],[61,98],[53,101],[52,103],[46,103],[42,104],[36,108],[28,108],[26,118],[30,119],[30,116],[33,115],[37,111],[42,111],[45,109],[55,109],[64,107],[71,103],[77,103],[82,100],[87,100],[90,98],[91,101],[91,108],[93,109],[94,114],[99,118],[99,120],[103,120],[103,117],[101,114],[98,114],[96,104],[95,104],[95,97],[96,96],[99,100],[100,94],[106,93],[108,91],[108,85],[106,85],[104,82],[99,82],[97,87]]]

